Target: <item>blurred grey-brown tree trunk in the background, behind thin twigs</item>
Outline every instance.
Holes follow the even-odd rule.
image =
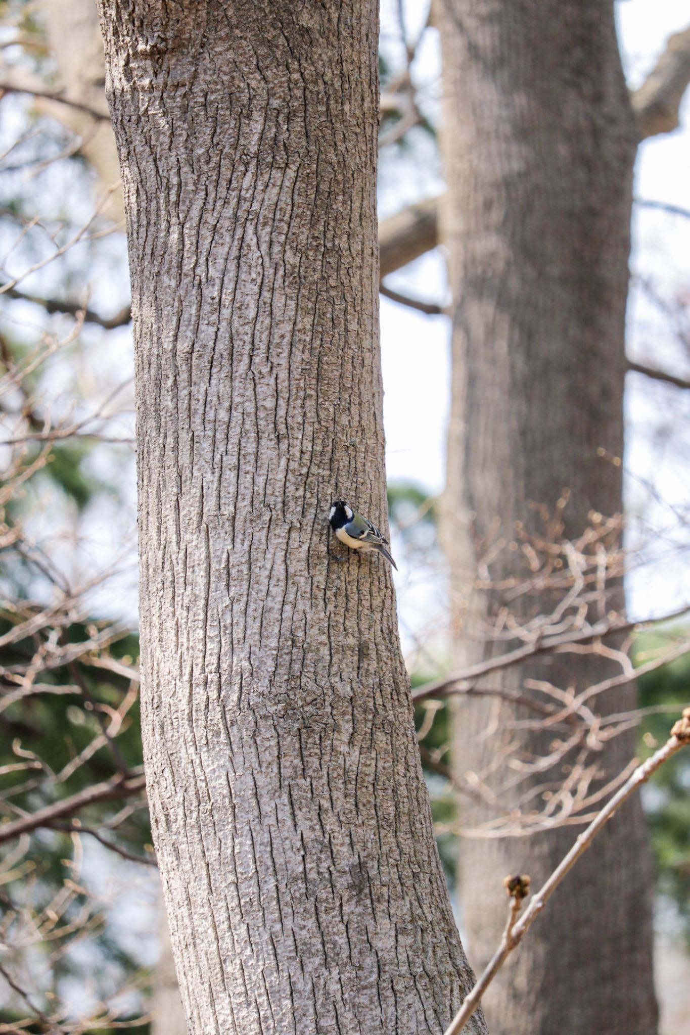
[[[541,529],[530,501],[553,513],[564,489],[571,494],[566,537],[581,534],[590,511],[622,509],[621,468],[597,448],[622,455],[636,135],[606,0],[441,0],[437,24],[448,182],[442,228],[454,297],[445,537],[460,599],[497,519],[507,540],[514,522]],[[501,552],[492,575],[515,574],[516,556]],[[472,616],[480,624],[502,602],[499,593],[471,597],[458,664],[489,649],[461,639]],[[523,609],[548,613],[553,604],[542,593]],[[582,688],[609,671],[601,658],[562,656],[496,674],[492,685],[515,689],[541,678]],[[617,689],[598,710],[624,711],[632,701],[631,688]],[[457,709],[462,773],[483,772],[492,760],[497,738],[484,735],[489,707]],[[516,733],[516,717],[527,716],[502,703],[505,736],[519,738],[519,757],[545,753],[548,739]],[[634,750],[632,734],[614,739],[599,760],[602,777],[622,770]],[[563,776],[559,770],[535,782]],[[467,826],[493,815],[464,801],[461,807]],[[503,878],[528,873],[540,886],[576,834],[562,827],[530,838],[462,841],[462,919],[477,968],[505,923]],[[638,799],[569,882],[489,989],[489,1030],[651,1035],[651,865]]]

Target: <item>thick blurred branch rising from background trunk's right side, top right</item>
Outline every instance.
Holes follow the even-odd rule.
[[[631,95],[640,140],[672,132],[690,84],[690,27],[677,32],[638,90]]]

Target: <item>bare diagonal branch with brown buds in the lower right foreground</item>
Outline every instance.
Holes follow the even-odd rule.
[[[517,922],[515,922],[515,918],[517,911],[519,910],[519,903],[521,901],[523,895],[519,896],[519,900],[518,896],[514,897],[511,906],[510,917],[508,918],[508,923],[499,948],[489,960],[488,966],[476,982],[472,992],[470,992],[470,994],[466,997],[461,1008],[446,1029],[445,1035],[459,1035],[462,1028],[464,1028],[466,1024],[479,1006],[482,996],[503,967],[508,955],[512,952],[515,946],[519,944],[522,936],[530,929],[534,921],[537,919],[538,915],[541,913],[561,881],[572,869],[579,857],[587,851],[601,828],[608,823],[624,801],[627,801],[634,791],[641,787],[642,783],[646,783],[650,776],[652,776],[652,774],[655,773],[660,766],[667,762],[671,756],[676,755],[677,751],[679,751],[682,747],[685,747],[687,744],[690,744],[690,708],[684,709],[683,718],[679,719],[672,728],[670,737],[663,747],[660,747],[659,750],[656,751],[652,758],[648,759],[647,762],[643,762],[641,766],[637,766],[632,776],[630,776],[621,790],[613,795],[610,801],[595,817],[587,830],[583,830],[579,837],[577,837],[573,847],[564,856],[551,876],[545,881],[540,890],[534,896],[528,909],[522,914],[522,919]]]

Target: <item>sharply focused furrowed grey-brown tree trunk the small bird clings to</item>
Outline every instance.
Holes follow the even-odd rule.
[[[473,978],[390,567],[327,525],[343,496],[385,525],[376,6],[102,0],[101,24],[147,789],[189,1031],[442,1032]]]

